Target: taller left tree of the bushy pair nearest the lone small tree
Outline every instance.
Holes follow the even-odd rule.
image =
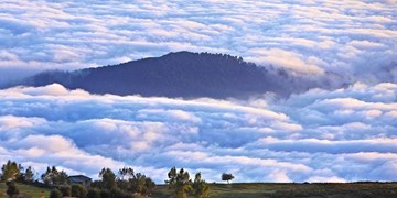
[[[165,184],[169,184],[169,188],[173,190],[174,197],[185,198],[186,194],[192,190],[190,175],[183,168],[179,172],[175,167],[171,168],[168,173],[169,179]]]

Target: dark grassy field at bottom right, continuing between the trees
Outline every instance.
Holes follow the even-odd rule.
[[[262,197],[397,197],[397,183],[351,184],[211,184],[210,197],[262,198]],[[164,185],[155,187],[153,197],[170,197]]]

